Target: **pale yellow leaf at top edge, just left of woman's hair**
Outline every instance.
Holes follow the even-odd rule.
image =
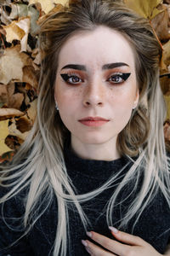
[[[52,9],[54,9],[55,4],[60,3],[62,5],[66,5],[68,6],[69,4],[69,0],[30,0],[29,1],[29,5],[30,4],[35,4],[35,3],[41,3],[42,6],[42,11],[44,11],[45,14],[48,14],[48,12]]]

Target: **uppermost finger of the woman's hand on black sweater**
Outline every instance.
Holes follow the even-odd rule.
[[[118,241],[122,241],[131,246],[144,246],[147,242],[144,241],[139,236],[133,236],[127,234],[126,232],[122,232],[120,230],[116,230],[113,227],[109,227],[111,230],[111,234],[116,237]]]

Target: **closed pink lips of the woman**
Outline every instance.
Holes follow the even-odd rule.
[[[101,125],[105,125],[105,123],[109,122],[109,119],[103,119],[101,117],[87,117],[84,119],[80,119],[78,120],[80,123],[82,123],[82,125],[87,125],[87,126],[101,126]]]

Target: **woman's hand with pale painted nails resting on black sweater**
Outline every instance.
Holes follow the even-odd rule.
[[[156,252],[156,249],[150,246],[149,243],[144,241],[139,236],[129,235],[125,232],[116,230],[110,227],[111,234],[115,236],[116,240],[112,240],[106,236],[102,236],[94,231],[87,232],[87,235],[99,243],[102,247],[105,247],[109,252],[105,251],[102,247],[96,246],[91,241],[82,240],[82,244],[90,255],[93,256],[161,256],[161,253]],[[125,244],[122,244],[121,242]]]

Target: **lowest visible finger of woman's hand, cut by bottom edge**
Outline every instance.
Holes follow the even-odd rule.
[[[90,255],[93,256],[116,256],[116,254],[114,253],[110,253],[110,252],[106,252],[103,248],[95,245],[93,242],[91,241],[84,241],[82,240],[82,244],[84,245],[84,247],[86,248],[87,252]]]

